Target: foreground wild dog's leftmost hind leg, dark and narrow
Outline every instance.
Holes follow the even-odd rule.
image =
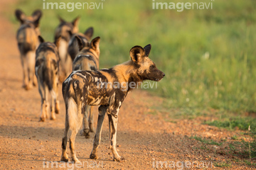
[[[63,150],[62,150],[61,159],[60,159],[60,161],[63,161],[63,162],[68,162],[68,153],[67,153],[68,130],[69,130],[68,115],[66,113],[66,115],[65,115],[65,130],[64,130],[64,135],[63,135],[63,142],[61,145],[61,148]]]

